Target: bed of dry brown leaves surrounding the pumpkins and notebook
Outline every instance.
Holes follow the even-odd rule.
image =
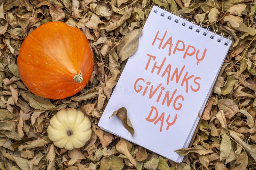
[[[255,0],[0,0],[0,4],[0,169],[256,169]],[[186,155],[182,163],[97,126],[153,4],[230,34],[234,41],[193,145],[178,151]],[[31,94],[16,65],[22,41],[50,21],[81,29],[95,54],[87,87],[55,101]],[[92,122],[92,137],[80,149],[56,148],[47,137],[50,118],[66,108],[82,110]]]

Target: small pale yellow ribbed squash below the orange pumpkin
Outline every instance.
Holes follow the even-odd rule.
[[[47,132],[59,148],[80,148],[92,135],[91,121],[81,111],[60,110],[51,118]]]

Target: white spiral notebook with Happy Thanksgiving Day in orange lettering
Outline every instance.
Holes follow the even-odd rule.
[[[188,147],[232,43],[223,35],[153,6],[98,125],[181,162],[174,151]],[[133,136],[110,117],[121,107]]]

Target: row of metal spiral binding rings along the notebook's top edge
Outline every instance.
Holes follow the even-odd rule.
[[[153,11],[154,13],[157,13],[158,12],[158,10],[159,10],[159,6],[157,6],[156,7],[156,9]],[[164,9],[164,11],[160,14],[160,16],[162,16],[162,17],[164,17],[164,15],[165,15],[165,13],[166,13],[166,9]],[[173,17],[173,15],[174,15],[174,12],[171,12],[170,13],[170,15],[167,17],[167,19],[169,19],[169,20],[171,20],[172,19],[172,17]],[[180,18],[181,18],[181,15],[178,15],[178,18],[177,19],[175,19],[175,23],[179,23],[179,21],[180,21]],[[181,24],[182,26],[186,26],[186,24],[187,24],[187,22],[188,22],[188,18],[185,18],[185,21]],[[196,21],[192,21],[192,23],[191,23],[191,25],[189,25],[189,29],[190,30],[193,30],[193,28],[194,28],[194,26],[195,26],[195,23],[196,23]],[[198,25],[199,27],[196,29],[196,32],[200,32],[201,31],[201,28],[203,27],[203,24],[202,23],[200,23],[199,25]],[[204,36],[206,36],[207,34],[208,34],[208,32],[209,32],[209,29],[210,29],[210,27],[209,26],[207,26],[206,27],[206,31],[203,33],[203,35]],[[214,37],[215,37],[215,35],[216,35],[216,33],[217,33],[217,30],[216,29],[214,29],[213,30],[213,34],[210,36],[210,39],[214,39]],[[223,37],[224,37],[224,33],[223,32],[221,32],[221,34],[220,34],[220,38],[217,40],[218,42],[221,42],[222,41],[222,39],[223,39]],[[228,46],[228,44],[229,44],[229,42],[230,42],[230,40],[231,40],[231,36],[229,35],[228,36],[228,40],[224,43],[224,45],[226,45],[226,46]]]

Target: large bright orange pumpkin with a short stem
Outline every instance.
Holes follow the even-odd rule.
[[[26,37],[17,63],[20,78],[32,93],[63,99],[82,90],[90,80],[94,56],[81,30],[49,22]]]

